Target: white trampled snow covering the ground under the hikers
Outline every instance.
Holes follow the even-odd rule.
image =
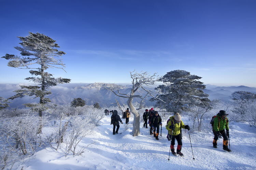
[[[132,119],[132,118],[130,118]],[[125,119],[122,119],[125,122]],[[184,119],[183,119],[184,120]],[[80,146],[88,146],[83,155],[73,156],[65,154],[62,148],[56,152],[46,147],[26,158],[24,162],[15,164],[20,170],[190,170],[190,169],[256,169],[256,128],[244,123],[230,124],[231,153],[222,149],[222,140],[218,140],[218,148],[212,147],[213,134],[210,129],[204,132],[190,132],[193,152],[187,130],[183,130],[184,157],[170,154],[170,141],[167,140],[166,120],[163,120],[162,136],[157,141],[148,133],[149,129],[141,128],[141,134],[133,137],[132,120],[130,128],[124,131],[124,124],[120,124],[119,133],[112,134],[110,115],[102,120],[102,125],[95,129],[93,135],[84,138]],[[187,122],[184,120],[184,123]],[[142,122],[141,122],[142,127]],[[44,129],[47,133],[47,128]],[[160,134],[159,134],[160,135]],[[177,141],[175,140],[175,150]],[[63,150],[65,150],[63,148]]]

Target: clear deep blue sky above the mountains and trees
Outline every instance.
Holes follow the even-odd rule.
[[[255,0],[0,0],[0,56],[19,54],[16,36],[43,33],[66,52],[55,77],[71,83],[130,83],[129,71],[181,69],[205,84],[256,87]],[[0,83],[24,83],[6,66]]]

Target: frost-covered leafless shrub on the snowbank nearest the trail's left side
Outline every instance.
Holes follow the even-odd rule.
[[[81,155],[85,148],[80,148],[77,151],[77,145],[85,136],[93,132],[94,127],[95,124],[91,123],[86,116],[71,116],[66,133],[66,155],[69,154],[69,151],[71,151],[73,155]]]

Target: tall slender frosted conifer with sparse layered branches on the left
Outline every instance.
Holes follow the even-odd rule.
[[[20,69],[33,69],[29,73],[32,77],[28,77],[25,80],[32,81],[38,85],[25,86],[21,85],[21,89],[15,90],[17,94],[9,99],[22,98],[25,95],[34,96],[39,98],[39,103],[27,103],[26,107],[30,107],[32,111],[39,112],[39,116],[42,117],[43,111],[47,109],[45,103],[51,102],[49,98],[46,98],[51,94],[50,89],[57,84],[69,83],[70,79],[54,78],[51,73],[46,72],[48,68],[60,68],[64,70],[65,64],[62,63],[61,55],[66,54],[63,51],[58,51],[59,48],[56,44],[56,40],[40,34],[31,33],[26,37],[18,37],[22,42],[19,43],[22,47],[14,47],[20,51],[21,56],[5,54],[2,58],[11,60],[8,62],[9,67],[15,67]],[[39,129],[41,132],[42,127]]]

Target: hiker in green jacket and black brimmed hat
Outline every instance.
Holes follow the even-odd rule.
[[[228,137],[229,137],[229,127],[228,127],[228,118],[226,117],[228,114],[226,114],[225,111],[221,110],[217,114],[217,116],[214,118],[213,123],[213,147],[217,148],[217,140],[218,138],[223,137],[223,150],[231,152],[230,149],[228,149]],[[225,132],[226,129],[226,132]]]

